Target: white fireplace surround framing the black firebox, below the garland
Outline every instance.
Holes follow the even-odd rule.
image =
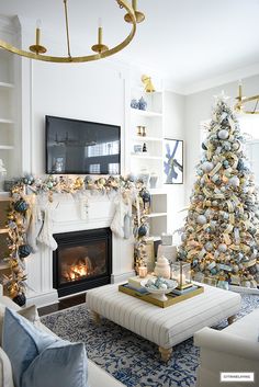
[[[110,227],[114,216],[114,194],[92,194],[75,197],[55,194],[53,206],[53,234],[89,230]],[[87,198],[87,201],[86,201]],[[27,305],[49,305],[58,301],[53,288],[53,251],[38,243],[38,251],[26,259]],[[134,239],[112,237],[112,283],[119,283],[134,275]]]

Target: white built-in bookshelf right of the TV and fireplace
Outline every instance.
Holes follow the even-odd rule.
[[[138,110],[131,106],[133,99],[140,98],[147,102],[147,109]],[[128,112],[128,133],[125,148],[128,150],[127,171],[139,175],[147,170],[150,175],[158,177],[155,189],[148,186],[151,195],[151,207],[148,214],[149,236],[153,240],[160,239],[161,232],[167,231],[167,193],[162,189],[162,145],[164,145],[164,92],[146,93],[143,88],[133,87],[128,93],[126,111]],[[139,136],[138,126],[145,126],[145,136]],[[143,148],[146,144],[147,151],[135,151],[134,147]]]

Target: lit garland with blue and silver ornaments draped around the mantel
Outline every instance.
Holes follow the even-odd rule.
[[[49,202],[56,194],[77,193],[99,193],[110,194],[120,192],[122,195],[131,195],[133,198],[133,234],[135,237],[134,268],[138,272],[140,265],[146,264],[146,236],[148,231],[147,212],[150,204],[150,195],[143,181],[133,177],[109,177],[93,180],[87,175],[81,177],[54,177],[46,179],[34,179],[26,175],[15,182],[11,189],[11,203],[8,212],[8,244],[9,257],[4,260],[9,262],[11,273],[3,275],[2,284],[7,287],[9,296],[19,305],[26,301],[26,274],[24,259],[33,252],[33,248],[27,243],[27,228],[30,225],[35,195],[45,194]],[[123,196],[122,196],[123,200]]]

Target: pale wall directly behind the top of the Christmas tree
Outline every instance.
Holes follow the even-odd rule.
[[[259,89],[259,76],[254,76],[243,79],[244,95],[256,95]],[[199,93],[188,95],[185,98],[184,127],[188,155],[185,162],[187,184],[185,184],[185,203],[189,203],[189,197],[195,179],[195,166],[200,159],[200,123],[201,121],[211,118],[212,106],[214,104],[214,95],[218,95],[222,90],[226,95],[232,98],[230,102],[235,103],[235,98],[238,94],[238,80],[222,84],[219,87],[209,89]]]

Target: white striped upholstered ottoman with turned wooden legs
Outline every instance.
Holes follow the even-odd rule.
[[[204,293],[160,308],[119,292],[119,285],[105,285],[87,292],[87,305],[97,320],[101,315],[156,343],[162,360],[167,361],[173,345],[224,318],[228,318],[230,323],[240,308],[239,294],[202,286]]]

